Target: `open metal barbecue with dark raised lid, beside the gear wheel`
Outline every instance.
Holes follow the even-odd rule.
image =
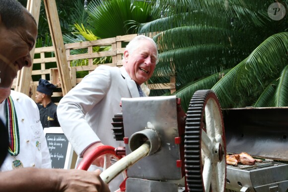
[[[227,165],[226,192],[287,192],[288,108],[222,110],[227,153],[247,152],[255,165]]]

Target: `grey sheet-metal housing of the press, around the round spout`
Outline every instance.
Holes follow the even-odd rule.
[[[181,169],[183,159],[181,160],[180,156],[180,143],[175,143],[175,138],[180,139],[181,136],[175,109],[175,96],[122,99],[126,155],[131,153],[126,138],[130,138],[137,131],[153,129],[161,140],[160,150],[141,159],[127,170],[129,178],[180,180],[184,176]],[[177,166],[177,161],[180,161],[180,166]]]

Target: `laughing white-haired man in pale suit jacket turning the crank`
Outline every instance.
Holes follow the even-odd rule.
[[[157,58],[155,42],[144,35],[136,36],[124,51],[122,67],[98,66],[61,99],[58,121],[79,157],[85,158],[103,144],[124,146],[123,141],[113,138],[112,118],[121,113],[121,98],[146,96],[140,85],[152,76]],[[92,164],[103,167],[103,163],[101,156]],[[109,183],[110,190],[119,189],[122,181],[114,179]]]

